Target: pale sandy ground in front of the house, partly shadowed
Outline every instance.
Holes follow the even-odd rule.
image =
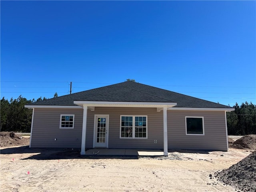
[[[236,164],[251,152],[173,152],[181,160],[81,157],[75,150],[2,148],[1,192],[156,191],[232,192],[209,174]]]

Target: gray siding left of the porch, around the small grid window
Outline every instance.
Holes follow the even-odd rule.
[[[60,129],[61,114],[75,115],[74,129]],[[82,109],[35,108],[31,147],[81,148],[82,118]]]

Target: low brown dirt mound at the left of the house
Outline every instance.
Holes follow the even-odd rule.
[[[14,132],[0,132],[0,147],[29,145],[30,138],[24,138]]]

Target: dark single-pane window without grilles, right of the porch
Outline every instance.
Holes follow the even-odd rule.
[[[204,135],[204,117],[185,117],[186,135]]]

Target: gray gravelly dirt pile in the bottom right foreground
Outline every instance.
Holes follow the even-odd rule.
[[[228,169],[214,173],[217,180],[243,191],[256,191],[256,151]]]

